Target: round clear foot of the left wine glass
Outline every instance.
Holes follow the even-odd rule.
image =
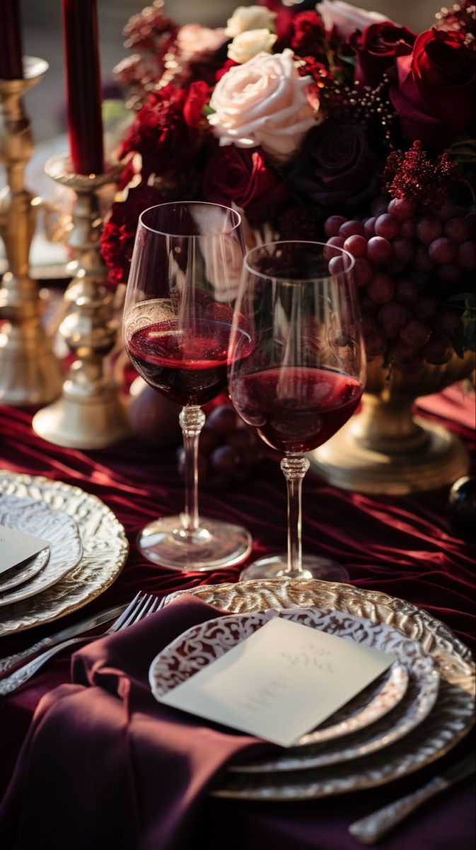
[[[251,552],[249,531],[217,519],[200,519],[199,528],[185,530],[182,516],[161,517],[137,535],[144,558],[168,570],[207,572],[240,564]]]

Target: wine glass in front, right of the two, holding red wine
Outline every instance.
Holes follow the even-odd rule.
[[[228,391],[244,422],[283,453],[288,553],[261,558],[243,579],[346,581],[339,564],[301,552],[305,452],[344,425],[361,399],[365,351],[349,253],[310,241],[250,251],[235,303]],[[246,335],[244,335],[246,331]]]

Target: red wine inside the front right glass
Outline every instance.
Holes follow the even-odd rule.
[[[267,445],[282,452],[316,449],[356,410],[361,382],[343,371],[284,366],[238,377],[233,403]]]

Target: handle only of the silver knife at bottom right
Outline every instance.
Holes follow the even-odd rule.
[[[400,800],[389,803],[384,808],[379,808],[377,812],[367,815],[367,818],[356,820],[349,827],[350,835],[354,836],[361,844],[375,844],[382,836],[394,826],[400,824],[407,815],[415,811],[423,802],[429,800],[434,794],[443,791],[450,785],[446,779],[440,776],[435,776],[427,785],[423,785],[412,794],[400,797]]]

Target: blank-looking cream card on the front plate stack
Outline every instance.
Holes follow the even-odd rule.
[[[394,661],[390,653],[276,616],[158,700],[291,746]]]

